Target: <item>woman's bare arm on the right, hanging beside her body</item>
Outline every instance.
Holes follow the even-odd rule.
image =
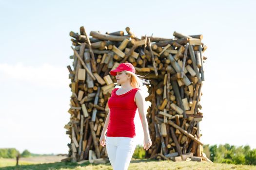
[[[144,132],[144,149],[148,150],[152,145],[152,141],[150,139],[149,130],[148,130],[148,121],[146,118],[145,112],[145,98],[141,94],[141,90],[138,90],[135,94],[135,102],[138,107],[139,118],[143,127]]]

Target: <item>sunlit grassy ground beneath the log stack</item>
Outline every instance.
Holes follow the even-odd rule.
[[[110,163],[98,165],[86,163],[78,165],[76,163],[49,163],[49,161],[48,163],[42,163],[41,161],[35,162],[31,160],[22,160],[20,161],[21,165],[17,167],[15,167],[15,163],[15,159],[0,159],[0,167],[2,167],[0,170],[113,170]],[[205,161],[173,162],[132,159],[129,170],[256,170],[256,166],[217,163],[211,164]]]

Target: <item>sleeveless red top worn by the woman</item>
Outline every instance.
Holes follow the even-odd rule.
[[[106,136],[135,137],[134,117],[137,110],[134,102],[135,94],[139,88],[117,95],[118,88],[114,88],[108,101],[110,109],[109,124]]]

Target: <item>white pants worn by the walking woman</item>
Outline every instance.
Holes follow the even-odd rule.
[[[106,136],[106,149],[114,170],[128,170],[136,148],[135,137]]]

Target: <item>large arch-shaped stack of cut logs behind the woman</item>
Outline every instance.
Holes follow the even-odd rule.
[[[146,158],[180,160],[208,160],[200,141],[200,96],[204,81],[203,52],[206,46],[202,35],[184,35],[174,32],[174,38],[142,36],[138,38],[129,27],[126,33],[118,31],[101,34],[70,32],[74,55],[69,85],[70,121],[65,125],[68,158],[81,162],[105,162],[106,147],[99,145],[99,138],[109,112],[107,105],[115,88],[112,69],[120,63],[130,62],[136,73],[150,80],[146,101],[147,119],[152,139]],[[209,160],[208,160],[209,161]]]

